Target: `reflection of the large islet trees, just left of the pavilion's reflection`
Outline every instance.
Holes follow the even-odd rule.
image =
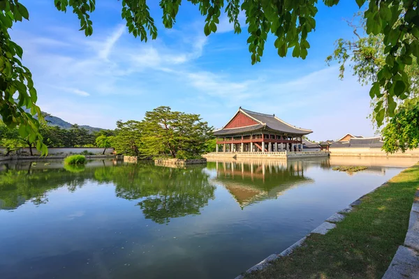
[[[174,169],[151,164],[96,169],[98,181],[112,181],[117,197],[142,199],[138,206],[145,218],[159,224],[170,218],[199,214],[214,199],[213,186],[203,168]]]

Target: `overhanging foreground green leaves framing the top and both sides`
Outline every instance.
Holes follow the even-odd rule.
[[[51,0],[52,1],[52,0]],[[310,47],[308,34],[316,27],[315,16],[318,0],[189,0],[198,7],[205,17],[205,35],[215,33],[221,13],[226,13],[233,23],[235,33],[240,33],[238,20],[241,11],[246,16],[249,32],[249,52],[251,63],[263,56],[268,34],[274,36],[274,46],[279,56],[286,56],[292,49],[294,57],[305,59]],[[355,0],[361,8],[367,1]],[[93,33],[90,15],[95,9],[95,0],[54,0],[58,10],[72,10],[80,20],[80,30],[86,36]],[[154,19],[149,13],[147,0],[122,0],[122,18],[126,20],[128,31],[135,37],[147,41],[157,37]],[[161,0],[163,25],[172,28],[182,0]],[[339,0],[323,0],[326,6],[334,6]],[[370,95],[381,98],[385,92],[387,107],[376,112],[378,125],[382,123],[386,110],[395,112],[396,103],[391,98],[404,100],[409,95],[410,80],[406,75],[406,65],[419,56],[419,9],[418,0],[376,0],[368,1],[364,18],[367,34],[382,35],[385,65],[377,73]],[[42,136],[38,133],[41,110],[36,106],[36,89],[28,68],[22,65],[22,48],[10,40],[9,29],[13,23],[29,20],[29,12],[18,0],[0,0],[0,115],[9,127],[20,126],[22,137],[30,135],[40,142],[37,146],[46,153]],[[29,109],[25,112],[24,107]]]

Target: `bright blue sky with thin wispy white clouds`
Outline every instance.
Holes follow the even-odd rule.
[[[319,1],[307,59],[279,57],[271,37],[262,62],[253,66],[247,27],[234,34],[221,17],[219,31],[205,37],[198,7],[183,1],[175,27],[164,29],[159,1],[148,2],[159,36],[144,43],[128,33],[120,1],[97,1],[94,34],[86,38],[76,15],[57,11],[53,0],[22,0],[30,21],[15,24],[11,36],[24,49],[43,111],[115,128],[119,119],[140,120],[167,105],[221,128],[242,106],[309,128],[314,140],[374,134],[367,86],[351,73],[339,80],[337,65],[325,63],[335,40],[352,38],[344,18],[358,11],[355,1],[333,8]]]

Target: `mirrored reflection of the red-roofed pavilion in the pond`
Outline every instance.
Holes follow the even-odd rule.
[[[286,190],[314,180],[304,176],[302,160],[214,160],[214,182],[224,186],[242,209],[265,199],[276,199]]]

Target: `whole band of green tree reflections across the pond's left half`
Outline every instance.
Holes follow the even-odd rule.
[[[115,167],[117,165],[117,167]],[[199,214],[215,186],[203,167],[175,169],[155,167],[151,163],[123,164],[93,161],[86,167],[62,167],[61,162],[36,167],[27,163],[7,164],[0,172],[0,209],[17,209],[30,200],[36,205],[48,202],[47,192],[66,187],[71,192],[89,180],[113,183],[115,195],[138,199],[145,218],[163,224],[170,218]]]

